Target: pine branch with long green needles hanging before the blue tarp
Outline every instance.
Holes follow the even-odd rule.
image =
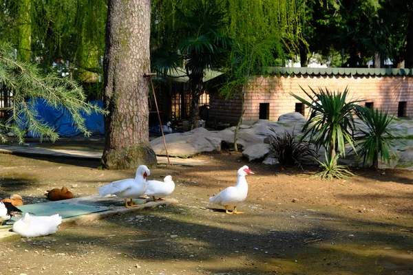
[[[0,121],[0,140],[6,142],[5,133],[12,132],[20,143],[24,140],[26,130],[55,141],[59,135],[54,128],[41,120],[34,109],[38,99],[56,109],[65,109],[72,115],[76,129],[89,135],[85,118],[81,112],[90,114],[94,111],[105,113],[97,105],[85,102],[83,89],[74,80],[61,78],[56,74],[41,74],[36,65],[24,63],[14,57],[10,44],[0,43],[0,81],[3,87],[13,92],[13,104],[8,111],[11,115],[6,122]],[[32,100],[28,100],[28,99]]]

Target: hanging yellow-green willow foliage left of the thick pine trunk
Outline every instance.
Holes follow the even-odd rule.
[[[62,61],[81,82],[103,75],[106,0],[0,0],[0,14],[0,41],[14,45],[20,60],[45,72]]]

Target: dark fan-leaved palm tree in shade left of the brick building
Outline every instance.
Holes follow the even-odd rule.
[[[220,33],[224,28],[224,12],[215,1],[194,1],[188,10],[178,11],[180,22],[171,30],[178,39],[158,34],[152,52],[152,67],[161,74],[184,67],[189,78],[191,124],[199,120],[200,96],[204,93],[203,77],[207,69],[220,69],[229,56],[233,40]],[[165,33],[165,32],[164,32]],[[171,34],[169,34],[171,35]],[[178,41],[176,45],[171,45]]]

